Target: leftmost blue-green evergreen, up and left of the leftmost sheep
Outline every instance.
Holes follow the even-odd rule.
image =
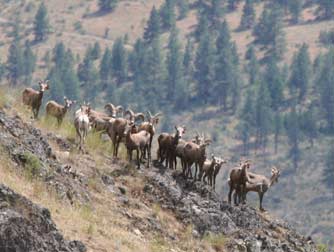
[[[7,57],[7,78],[11,85],[17,85],[20,77],[22,76],[22,69],[23,55],[21,46],[18,43],[13,42],[9,47]]]

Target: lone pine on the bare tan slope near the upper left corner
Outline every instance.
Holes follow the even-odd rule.
[[[38,8],[34,21],[35,41],[43,41],[47,38],[49,33],[49,19],[48,12],[44,2]]]

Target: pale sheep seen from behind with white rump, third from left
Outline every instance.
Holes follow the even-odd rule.
[[[89,130],[89,115],[90,107],[81,105],[80,110],[75,113],[74,127],[79,137],[79,150],[83,151],[83,144],[85,143],[86,136]]]

